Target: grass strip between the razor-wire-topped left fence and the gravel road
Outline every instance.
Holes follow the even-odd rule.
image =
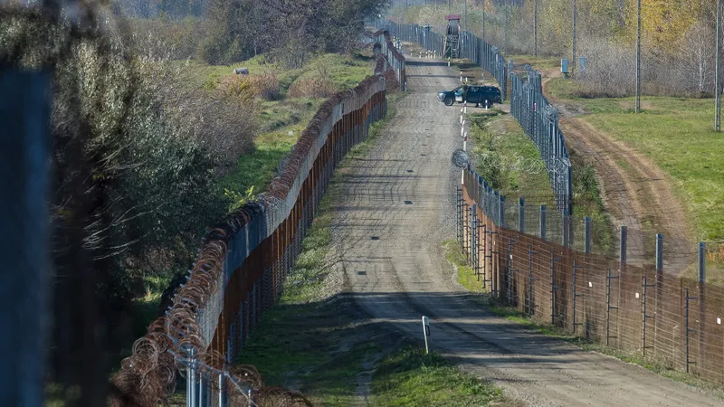
[[[388,96],[388,118],[394,100]],[[388,120],[388,118],[386,120]],[[315,405],[487,405],[500,399],[489,383],[462,374],[438,355],[400,345],[396,334],[370,327],[341,291],[340,270],[330,258],[330,224],[349,166],[367,156],[383,120],[354,147],[335,173],[281,300],[267,311],[237,357],[254,364],[267,385],[298,388]]]

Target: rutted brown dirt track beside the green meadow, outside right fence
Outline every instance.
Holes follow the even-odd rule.
[[[543,90],[557,70],[543,71]],[[628,227],[628,262],[653,264],[655,233],[664,239],[665,271],[679,275],[696,260],[694,233],[672,181],[653,161],[586,122],[586,109],[552,100],[560,112],[567,146],[595,165],[606,212],[616,227]],[[644,109],[646,108],[644,104]]]

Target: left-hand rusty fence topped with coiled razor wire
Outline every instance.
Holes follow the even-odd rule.
[[[404,58],[389,52],[404,78]],[[190,406],[309,404],[299,393],[264,387],[252,366],[233,361],[280,298],[334,169],[386,115],[385,77],[367,77],[326,100],[267,192],[207,233],[166,316],[148,327],[111,379],[118,389],[111,405],[159,405],[174,393],[176,372],[186,377]]]

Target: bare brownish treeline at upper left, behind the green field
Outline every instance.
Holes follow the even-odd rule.
[[[134,31],[165,38],[176,59],[229,64],[264,54],[299,68],[311,52],[351,52],[365,19],[382,13],[389,1],[205,0],[200,14],[161,13],[153,19],[138,18],[144,15],[139,10],[151,7],[139,4],[122,4],[134,16]]]

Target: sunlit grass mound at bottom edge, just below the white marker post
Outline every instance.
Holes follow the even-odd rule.
[[[405,345],[377,366],[372,382],[372,405],[487,406],[510,405],[500,389],[481,381],[435,353]]]

